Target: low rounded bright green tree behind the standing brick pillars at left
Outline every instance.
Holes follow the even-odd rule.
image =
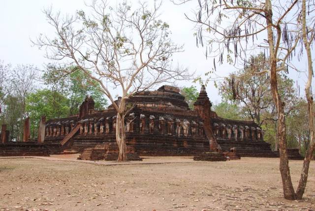
[[[66,117],[69,113],[69,100],[58,92],[37,90],[26,100],[26,112],[31,119],[31,135],[37,137],[41,116],[48,119]]]

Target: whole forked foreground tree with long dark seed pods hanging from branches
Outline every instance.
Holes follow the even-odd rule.
[[[186,2],[186,0],[183,0]],[[229,63],[234,61],[246,61],[246,56],[251,55],[250,52],[260,50],[267,52],[269,69],[256,72],[252,70],[252,74],[268,73],[270,77],[270,88],[272,99],[277,109],[277,139],[280,146],[280,173],[283,182],[284,198],[294,200],[302,198],[306,185],[305,177],[307,178],[309,163],[303,165],[303,173],[298,185],[297,191],[291,181],[290,170],[288,165],[287,141],[286,141],[286,125],[285,125],[285,102],[279,93],[278,78],[280,72],[286,72],[288,69],[297,70],[290,61],[292,58],[301,58],[302,47],[298,54],[295,54],[295,49],[302,44],[301,38],[304,37],[308,55],[308,68],[311,69],[310,62],[310,43],[313,42],[314,26],[306,26],[306,13],[303,13],[300,1],[273,1],[264,0],[213,0],[213,1],[198,1],[199,11],[196,13],[196,18],[189,20],[196,23],[198,33],[196,33],[196,41],[203,45],[204,31],[202,27],[206,27],[206,35],[209,37],[209,52],[211,56],[218,57],[218,62],[223,63],[223,57]],[[305,0],[302,1],[302,6]],[[313,11],[314,4],[308,1],[308,11]],[[302,10],[300,10],[302,8]],[[306,10],[306,9],[305,9]],[[302,15],[300,15],[302,14]],[[308,12],[309,23],[314,23],[312,12]],[[297,20],[295,22],[295,20]],[[302,24],[301,21],[302,20]],[[303,22],[305,24],[303,24]],[[304,26],[304,28],[301,26]],[[307,30],[310,29],[310,30]],[[300,45],[301,46],[301,45]],[[225,50],[225,51],[224,51]],[[206,56],[208,55],[208,46]],[[216,60],[214,59],[214,70],[216,70]],[[311,74],[309,74],[309,77]],[[310,93],[310,79],[306,85],[306,96],[308,102],[313,104],[312,95]],[[235,92],[236,93],[236,92]],[[312,111],[312,106],[310,111]],[[312,114],[312,112],[310,112]],[[309,115],[311,116],[311,115]],[[314,127],[314,123],[310,118],[310,127]],[[311,139],[312,139],[311,130]]]

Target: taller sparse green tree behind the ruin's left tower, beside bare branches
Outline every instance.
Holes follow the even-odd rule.
[[[100,91],[99,83],[89,80],[83,71],[64,75],[64,69],[71,71],[74,67],[57,67],[50,64],[43,74],[43,79],[45,84],[51,88],[52,93],[60,93],[69,99],[69,115],[78,113],[79,106],[87,95],[94,99],[96,110],[104,109],[107,106],[107,100]],[[90,84],[90,81],[93,83]],[[58,98],[56,100],[58,101]]]

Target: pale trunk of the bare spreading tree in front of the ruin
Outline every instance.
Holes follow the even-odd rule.
[[[125,115],[124,113],[117,113],[116,120],[116,142],[119,147],[119,155],[117,162],[126,162],[126,127],[125,127]]]

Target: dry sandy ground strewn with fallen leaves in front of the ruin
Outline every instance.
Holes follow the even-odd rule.
[[[134,165],[71,159],[0,159],[0,210],[315,210],[314,161],[303,200],[288,201],[277,158],[162,157]],[[290,161],[295,187],[301,166]]]

